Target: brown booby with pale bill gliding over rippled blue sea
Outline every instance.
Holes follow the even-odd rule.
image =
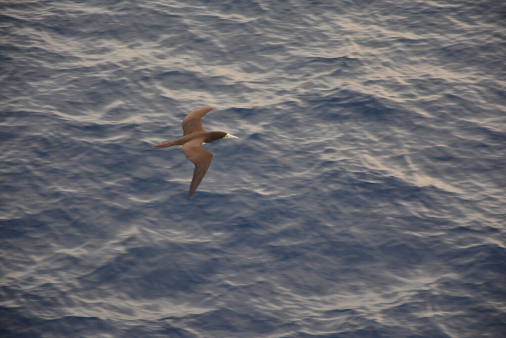
[[[213,110],[213,107],[202,107],[192,111],[183,120],[183,137],[151,146],[151,148],[155,149],[183,146],[183,152],[186,157],[195,164],[188,199],[190,199],[195,189],[197,189],[213,159],[213,153],[202,148],[202,142],[209,143],[221,139],[238,139],[237,136],[225,132],[208,132],[204,129],[202,117],[211,110]]]

